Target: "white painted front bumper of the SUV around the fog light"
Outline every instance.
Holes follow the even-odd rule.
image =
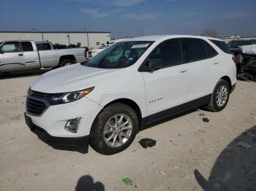
[[[63,138],[78,138],[89,136],[91,125],[102,106],[94,103],[88,98],[81,98],[68,104],[48,106],[39,116],[26,112],[31,118],[31,122],[45,130],[50,136]],[[64,129],[68,120],[81,118],[77,133],[72,133]]]

